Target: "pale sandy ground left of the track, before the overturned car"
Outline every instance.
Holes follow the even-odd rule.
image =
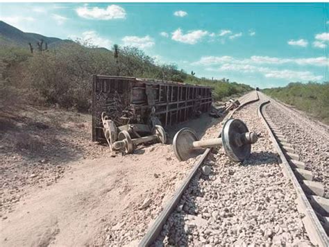
[[[0,121],[0,246],[128,244],[194,162],[177,162],[162,144],[110,157],[90,141],[85,114],[26,110]],[[171,128],[169,141],[180,128],[202,136],[219,121],[204,114]]]

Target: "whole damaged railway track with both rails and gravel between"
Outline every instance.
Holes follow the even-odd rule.
[[[249,122],[251,128],[256,126],[262,141],[255,153],[242,165],[233,165],[220,152],[213,155],[207,148],[139,246],[329,246],[328,199],[321,197],[323,185],[312,181],[312,173],[299,161],[292,145],[272,121],[267,121],[267,97],[255,92],[256,99],[251,99],[251,95],[223,122],[236,114],[248,127]],[[245,105],[252,114],[240,111]],[[223,164],[218,166],[220,162]],[[210,176],[202,175],[203,164],[212,165]],[[235,178],[237,173],[242,177]]]

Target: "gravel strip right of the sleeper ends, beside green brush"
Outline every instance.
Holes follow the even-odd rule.
[[[299,112],[275,102],[268,105],[267,114],[276,127],[280,128],[285,139],[292,144],[306,169],[312,171],[314,180],[323,183],[325,197],[329,198],[328,130]]]

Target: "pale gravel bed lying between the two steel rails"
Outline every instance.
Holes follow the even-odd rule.
[[[321,246],[314,238],[314,225],[307,221],[311,213],[297,204],[300,191],[282,170],[276,141],[258,117],[258,109],[267,101],[261,93],[259,98],[233,116],[260,134],[251,156],[237,164],[222,149],[204,153],[194,167],[195,175],[191,172],[186,178],[186,189],[182,186],[176,192],[182,194],[180,199],[173,197],[171,214],[167,212],[167,218],[166,208],[162,211],[140,246]],[[211,167],[208,176],[198,169],[201,164]]]

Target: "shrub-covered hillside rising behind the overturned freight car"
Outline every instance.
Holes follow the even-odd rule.
[[[0,95],[3,96],[0,110],[12,106],[12,99],[16,97],[37,105],[59,105],[87,112],[91,105],[92,74],[209,85],[214,87],[215,100],[252,90],[248,85],[230,83],[228,79],[198,78],[176,65],[156,65],[153,58],[136,47],[119,46],[117,56],[114,56],[105,48],[24,33],[4,22],[0,22],[0,35]],[[41,39],[50,44],[49,49],[38,51],[34,46],[31,53],[26,44],[36,44]],[[56,50],[54,46],[57,46]]]

